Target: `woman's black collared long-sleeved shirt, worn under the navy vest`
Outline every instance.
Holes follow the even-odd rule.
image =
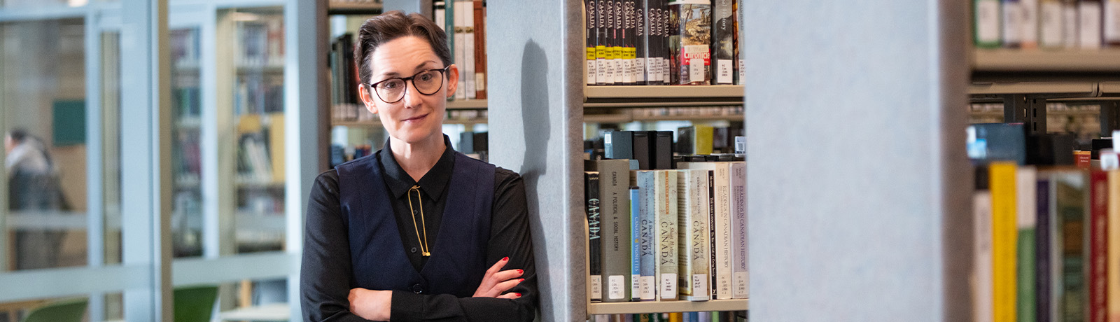
[[[420,242],[428,234],[428,243],[436,254],[436,236],[442,219],[448,184],[455,169],[455,151],[447,135],[447,149],[439,161],[420,178],[412,180],[392,155],[389,144],[373,158],[380,158],[383,179],[389,188],[396,228],[409,261],[419,271],[427,263],[421,256]],[[420,186],[423,203],[423,222],[412,226],[409,210],[409,188]],[[412,208],[419,206],[417,193],[411,193]],[[342,221],[338,201],[338,172],[329,170],[319,174],[311,188],[307,206],[307,225],[304,239],[304,264],[300,272],[300,294],[304,319],[307,321],[365,321],[349,312],[351,281],[354,274],[349,256],[349,242]],[[391,321],[532,321],[536,310],[536,274],[533,265],[532,243],[529,235],[529,214],[525,207],[525,186],[517,173],[497,168],[494,173],[494,203],[491,215],[491,239],[486,263],[493,265],[502,257],[510,257],[505,269],[524,269],[525,278],[508,292],[521,293],[517,300],[466,297],[449,294],[414,294],[393,291]],[[420,220],[420,215],[416,215]],[[423,229],[424,230],[420,230]],[[448,228],[451,229],[451,228]],[[418,230],[420,238],[418,239]],[[414,248],[414,250],[413,250]]]

